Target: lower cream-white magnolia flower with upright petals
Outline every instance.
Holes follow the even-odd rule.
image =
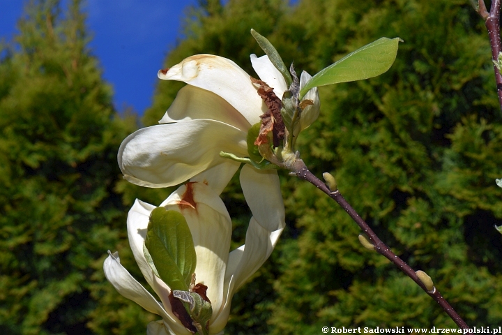
[[[258,184],[247,181],[248,174],[260,173]],[[197,267],[196,283],[208,287],[213,315],[209,321],[209,334],[218,334],[227,324],[231,298],[234,292],[254,274],[273,251],[284,229],[284,204],[279,191],[261,193],[267,184],[277,183],[277,175],[255,172],[245,166],[241,183],[245,184],[244,196],[252,211],[246,232],[245,245],[229,253],[232,224],[225,204],[213,189],[204,183],[193,182],[178,188],[160,206],[178,211],[185,217],[195,245]],[[261,197],[254,193],[261,193]],[[155,207],[136,200],[128,214],[128,237],[132,253],[146,281],[160,298],[155,299],[120,264],[117,253],[105,260],[105,275],[117,291],[135,301],[147,311],[158,314],[162,320],[151,322],[147,334],[189,335],[190,332],[172,313],[169,303],[171,290],[156,277],[143,253],[149,216]]]

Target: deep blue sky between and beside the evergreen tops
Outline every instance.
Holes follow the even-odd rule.
[[[0,0],[0,38],[17,32],[25,0]],[[157,71],[181,36],[183,13],[197,0],[85,0],[90,47],[114,87],[114,104],[143,114],[151,105]]]

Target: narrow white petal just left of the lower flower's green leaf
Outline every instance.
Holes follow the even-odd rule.
[[[152,287],[155,274],[153,274],[150,265],[146,262],[143,253],[143,244],[146,237],[146,228],[148,227],[150,214],[153,209],[155,209],[155,206],[136,199],[129,210],[127,219],[128,238],[132,255],[134,255],[146,282]]]

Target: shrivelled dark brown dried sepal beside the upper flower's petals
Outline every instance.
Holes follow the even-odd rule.
[[[284,122],[280,114],[282,103],[273,92],[273,88],[269,87],[266,82],[257,80],[251,77],[251,82],[258,87],[258,95],[264,100],[268,110],[265,114],[260,115],[261,127],[255,145],[268,143],[267,135],[272,132],[273,147],[279,147],[284,140]]]

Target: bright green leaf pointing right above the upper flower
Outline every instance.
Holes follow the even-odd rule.
[[[338,82],[353,82],[354,80],[363,80],[385,73],[395,61],[400,41],[402,41],[400,38],[382,37],[347,54],[347,56],[314,75],[302,87],[300,97],[303,98],[314,87]]]

